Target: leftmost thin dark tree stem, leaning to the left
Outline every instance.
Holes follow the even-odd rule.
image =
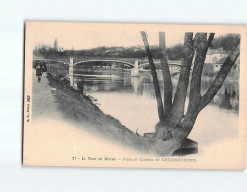
[[[162,98],[161,98],[160,86],[159,86],[159,81],[158,81],[158,77],[157,77],[157,73],[156,73],[156,68],[154,66],[153,57],[152,57],[152,54],[151,54],[151,51],[149,48],[146,33],[144,31],[141,31],[141,35],[142,35],[142,39],[143,39],[146,53],[148,56],[148,61],[149,61],[149,65],[151,68],[151,73],[153,76],[153,84],[154,84],[154,90],[155,90],[155,95],[156,95],[156,100],[157,100],[159,120],[164,121],[165,120],[164,108],[163,108],[163,102],[162,102]]]

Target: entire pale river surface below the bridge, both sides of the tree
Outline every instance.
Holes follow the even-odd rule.
[[[163,94],[162,73],[157,71]],[[172,77],[173,93],[179,74]],[[98,71],[74,75],[73,86],[83,81],[84,93],[91,95],[95,103],[106,114],[117,118],[124,126],[143,135],[154,132],[158,122],[157,103],[149,71],[142,71],[139,77],[131,77],[129,70]],[[210,86],[212,78],[202,78],[202,94]],[[227,78],[212,102],[199,114],[191,139],[206,144],[238,135],[239,83]]]

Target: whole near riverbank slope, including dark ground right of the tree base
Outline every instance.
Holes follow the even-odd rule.
[[[90,128],[90,133],[145,155],[180,156],[197,153],[197,143],[188,139],[181,144],[180,149],[174,152],[174,150],[170,150],[166,142],[154,142],[148,137],[140,136],[122,125],[119,120],[103,113],[93,103],[90,96],[80,94],[78,90],[70,87],[65,80],[61,80],[50,73],[48,73],[47,78],[49,86],[55,89],[53,93],[55,93],[56,102],[62,113],[78,123],[85,123],[86,121],[87,126],[93,127]]]

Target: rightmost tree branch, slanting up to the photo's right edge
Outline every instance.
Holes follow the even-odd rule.
[[[236,48],[232,49],[220,71],[216,75],[213,83],[208,88],[207,92],[202,96],[200,101],[199,110],[202,110],[206,105],[208,105],[214,96],[217,94],[223,82],[225,81],[228,73],[230,72],[232,66],[236,62],[238,56],[240,54],[240,46],[238,45]]]

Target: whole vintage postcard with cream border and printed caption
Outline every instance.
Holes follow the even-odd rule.
[[[247,27],[26,22],[23,164],[245,169]]]

